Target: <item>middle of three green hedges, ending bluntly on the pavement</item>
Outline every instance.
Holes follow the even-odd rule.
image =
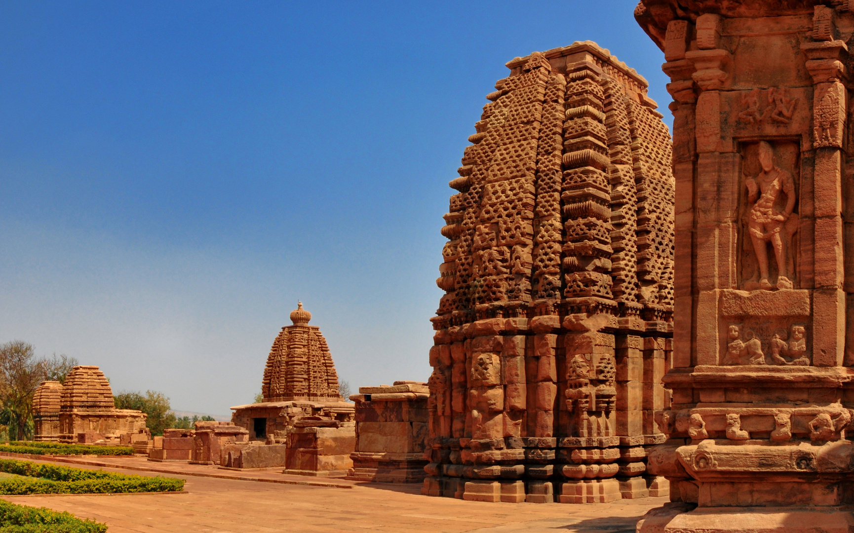
[[[178,479],[178,477],[137,476],[29,461],[0,460],[0,471],[24,476],[0,479],[0,495],[105,494],[184,490],[184,479]]]

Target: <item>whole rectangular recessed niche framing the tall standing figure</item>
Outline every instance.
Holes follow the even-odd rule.
[[[797,288],[798,143],[744,143],[741,156],[740,289]]]

